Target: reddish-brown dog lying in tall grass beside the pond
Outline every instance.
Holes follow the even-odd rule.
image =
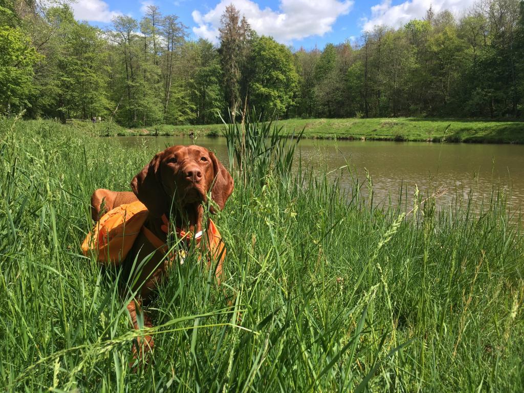
[[[149,214],[144,224],[150,233],[154,234],[163,243],[167,241],[166,217],[174,223],[177,232],[196,234],[204,228],[205,205],[210,206],[211,212],[218,208],[222,210],[233,192],[233,178],[224,168],[215,155],[200,146],[173,146],[159,152],[139,172],[131,182],[133,192],[115,192],[105,189],[96,190],[91,197],[91,213],[94,221],[99,220],[105,211],[116,206],[135,202],[142,202]],[[212,201],[208,201],[211,194]],[[206,233],[199,243],[201,252],[210,247],[214,233],[211,231],[214,224],[208,220],[205,225]],[[183,232],[182,232],[183,231]],[[133,248],[124,262],[124,276],[132,269],[129,265],[136,260],[141,260],[154,254],[138,272],[138,279],[133,280],[136,285],[132,291],[137,291],[136,298],[131,301],[127,309],[131,315],[135,329],[138,329],[137,311],[143,301],[149,301],[152,290],[157,287],[159,280],[168,271],[165,263],[166,255],[157,244],[152,244],[144,232],[140,232]],[[202,252],[202,254],[204,254]],[[222,259],[216,258],[215,276],[220,283],[222,275]],[[127,265],[127,266],[126,266]],[[208,268],[212,267],[208,259]],[[144,325],[151,327],[151,321],[144,314]],[[144,337],[144,345],[139,345],[141,354],[152,348],[151,336]],[[137,348],[134,347],[137,354]]]

